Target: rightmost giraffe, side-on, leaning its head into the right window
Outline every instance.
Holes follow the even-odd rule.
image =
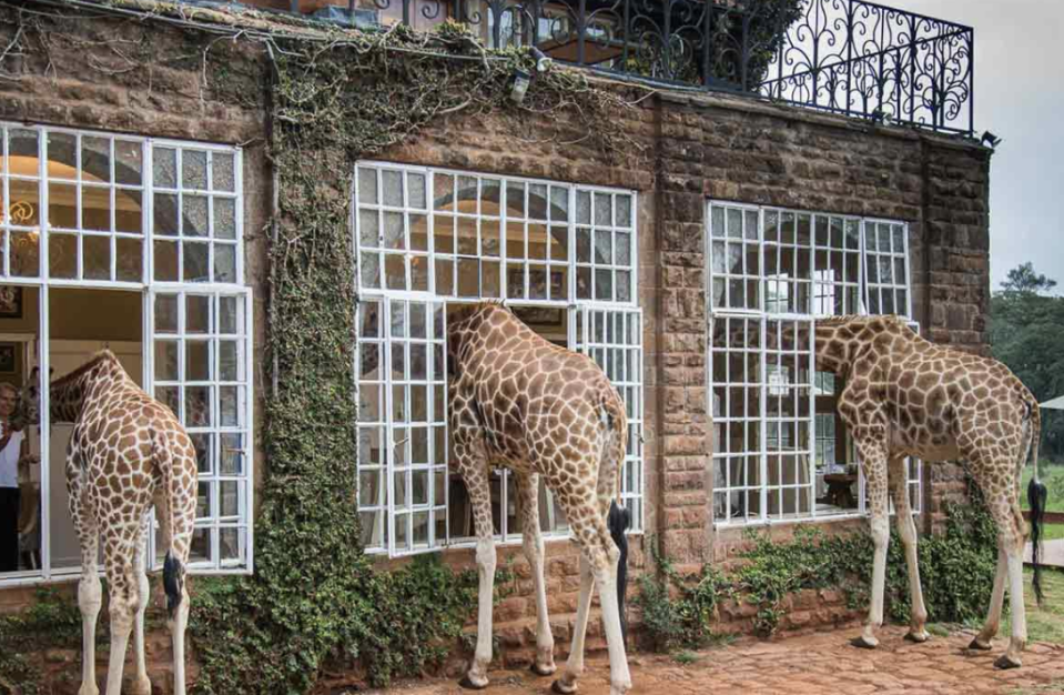
[[[857,646],[874,648],[883,622],[883,588],[889,543],[888,488],[893,496],[898,531],[905,551],[912,598],[906,638],[928,639],[926,607],[916,564],[916,528],[906,491],[905,456],[924,461],[969,462],[997,525],[997,568],[990,611],[970,648],[990,649],[997,633],[1009,580],[1013,617],[1009,648],[999,668],[1021,665],[1026,642],[1023,605],[1023,550],[1026,525],[1020,511],[1020,481],[1028,453],[1035,476],[1028,496],[1044,508],[1045,487],[1037,481],[1038,403],[1019,379],[996,360],[935,345],[899,316],[834,316],[815,323],[819,369],[845,380],[839,413],[854,440],[871,501],[872,601]],[[1035,552],[1041,537],[1034,524]],[[1042,600],[1038,555],[1034,588]]]

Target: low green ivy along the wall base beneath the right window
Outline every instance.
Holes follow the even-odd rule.
[[[918,544],[920,576],[929,621],[966,623],[982,620],[990,604],[997,557],[997,535],[974,482],[967,502],[946,506],[946,527]],[[789,598],[802,590],[838,588],[851,610],[865,608],[872,580],[872,536],[867,530],[827,535],[799,526],[792,541],[779,543],[751,531],[742,564],[729,574],[711,565],[698,576],[682,576],[656,552],[657,575],[641,577],[637,603],[651,648],[698,648],[715,638],[719,606],[736,601],[757,608],[753,627],[761,636],[777,632],[789,612]],[[904,546],[891,532],[886,560],[885,618],[909,622],[911,597]]]

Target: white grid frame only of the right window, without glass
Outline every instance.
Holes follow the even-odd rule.
[[[728,232],[730,230],[728,230],[726,231],[723,235],[715,236],[713,235],[715,209],[722,210],[722,219],[724,220],[726,224],[728,223],[728,210],[731,209],[737,211],[737,213],[741,215],[740,218],[741,224],[742,224],[741,233],[738,235],[729,236]],[[791,243],[782,244],[782,236],[777,236],[777,240],[772,240],[772,241],[766,240],[766,218],[768,214],[779,215],[776,218],[777,220],[781,220],[783,214],[794,215],[794,219],[798,219],[800,216],[807,216],[809,220],[809,230],[810,230],[809,245],[805,246],[802,244],[798,244],[797,238],[794,240],[796,243],[793,244]],[[757,233],[756,234],[748,233],[748,228],[750,226],[750,222],[754,219],[754,215],[758,224]],[[833,213],[827,213],[827,212],[793,210],[793,209],[784,209],[784,208],[777,208],[777,207],[769,207],[769,205],[753,205],[753,204],[746,204],[746,203],[736,203],[731,201],[708,200],[706,204],[706,223],[705,223],[705,229],[706,229],[706,270],[705,272],[706,272],[706,279],[707,279],[706,305],[708,310],[707,311],[708,360],[707,360],[706,383],[707,383],[707,391],[708,391],[708,403],[710,404],[711,412],[713,415],[715,432],[720,430],[719,425],[722,425],[723,427],[727,429],[730,424],[733,424],[733,423],[746,423],[743,426],[749,427],[757,422],[757,426],[759,427],[757,452],[746,451],[746,447],[748,446],[748,442],[749,442],[749,434],[743,434],[743,445],[742,445],[743,451],[737,451],[737,452],[730,451],[730,446],[731,446],[730,437],[727,443],[715,442],[715,453],[711,456],[711,465],[713,466],[712,470],[713,470],[715,482],[717,480],[717,466],[720,465],[721,463],[723,463],[723,465],[726,466],[724,486],[722,488],[717,488],[715,486],[715,490],[713,490],[713,501],[712,501],[712,508],[715,510],[713,523],[718,527],[791,524],[791,523],[821,522],[821,521],[841,521],[847,518],[863,517],[868,515],[868,505],[865,502],[867,492],[865,492],[865,484],[864,484],[864,475],[863,475],[863,472],[860,471],[860,467],[859,467],[859,474],[858,474],[858,496],[857,496],[858,506],[857,508],[852,511],[847,511],[844,513],[818,514],[815,500],[813,498],[810,503],[809,513],[796,514],[796,515],[787,516],[782,518],[774,518],[773,515],[769,514],[768,504],[767,504],[768,502],[767,491],[769,491],[768,460],[769,460],[770,452],[768,449],[769,432],[768,432],[766,407],[767,407],[767,400],[769,397],[779,396],[779,394],[776,392],[780,391],[780,389],[772,385],[776,382],[768,379],[770,370],[766,361],[767,348],[764,342],[768,324],[771,322],[779,322],[779,321],[791,322],[791,323],[808,322],[810,325],[810,330],[813,330],[815,325],[815,320],[818,318],[830,315],[830,314],[821,314],[817,312],[817,309],[820,304],[818,303],[818,299],[821,298],[821,293],[818,291],[817,285],[823,284],[823,283],[818,283],[818,280],[817,280],[817,270],[815,270],[817,252],[820,250],[824,250],[830,253],[829,249],[831,248],[830,244],[829,246],[821,246],[818,243],[818,233],[817,233],[818,221],[824,220],[824,219],[828,220],[829,233],[831,229],[830,228],[831,221],[833,220],[842,221],[843,239],[845,239],[847,231],[850,229],[853,229],[850,225],[857,224],[855,232],[859,235],[859,242],[857,244],[858,248],[854,249],[852,246],[845,245],[847,243],[845,241],[843,242],[842,246],[833,248],[837,252],[843,252],[844,254],[854,253],[854,252],[859,253],[858,278],[857,278],[855,289],[857,289],[857,296],[860,299],[863,305],[860,308],[851,308],[850,304],[851,304],[852,298],[847,296],[843,300],[843,305],[845,306],[847,313],[859,313],[859,310],[863,312],[864,308],[869,305],[870,292],[872,291],[885,290],[885,291],[892,291],[892,292],[903,292],[904,293],[904,306],[902,308],[903,311],[898,313],[902,315],[903,318],[905,318],[906,320],[909,320],[910,325],[914,326],[914,330],[916,330],[919,333],[919,324],[915,324],[911,320],[912,285],[911,285],[911,260],[909,258],[908,223],[902,221],[896,221],[896,220],[883,220],[883,219],[871,219],[871,218],[864,219],[864,218],[857,218],[854,215],[840,215],[840,214],[833,214]],[[871,251],[871,252],[868,251],[867,246],[868,246],[869,233],[874,233],[875,230],[881,228],[885,228],[889,230],[891,246],[886,251]],[[898,233],[895,233],[895,231]],[[902,240],[900,244],[901,248],[895,249],[894,246],[899,245],[895,241],[899,234]],[[740,249],[742,250],[742,258],[740,260],[740,263],[741,263],[740,273],[736,274],[730,272],[731,269],[728,268],[728,262],[729,262],[728,255],[723,258],[722,262],[720,261],[720,259],[715,259],[715,248],[717,248],[718,245],[721,245],[722,242],[723,242],[722,248],[724,249],[726,253],[728,251],[729,244],[741,244]],[[798,280],[783,281],[788,283],[788,286],[791,286],[796,282],[805,282],[809,284],[809,291],[807,292],[808,312],[796,313],[790,310],[771,311],[771,308],[769,306],[770,302],[768,299],[768,294],[769,294],[768,289],[769,289],[770,280],[769,280],[769,276],[767,275],[767,268],[768,268],[767,253],[772,250],[777,250],[778,252],[778,249],[781,245],[796,248],[796,249],[799,246],[809,249],[809,263],[810,263],[809,280],[808,281],[798,281]],[[754,275],[750,273],[748,270],[749,259],[747,258],[747,252],[750,250],[750,248],[753,248],[757,250],[757,253],[758,253],[757,265],[760,271],[760,275]],[[874,284],[874,288],[871,286],[871,284],[868,282],[868,279],[867,279],[868,263],[878,261],[879,256],[881,255],[890,259],[892,269],[894,268],[895,262],[901,262],[903,264],[904,283],[899,283],[896,281],[891,283],[871,283],[871,284]],[[779,259],[781,256],[777,256],[777,258]],[[794,262],[797,262],[798,254],[797,253],[793,254],[793,258],[794,258]],[[715,264],[715,261],[716,261],[716,264]],[[843,264],[845,265],[845,256],[843,256]],[[721,269],[723,269],[723,272],[721,272]],[[892,278],[892,280],[895,280],[895,279]],[[731,281],[742,283],[742,288],[740,291],[743,292],[743,296],[747,298],[747,301],[741,302],[739,305],[729,305],[733,303],[731,300],[731,294],[732,294],[732,290],[734,289],[734,283]],[[750,288],[751,281],[757,282],[758,296],[756,302],[749,301],[749,291],[750,291],[749,288]],[[847,288],[853,289],[852,288],[853,284],[854,283],[852,283],[849,278],[845,278],[843,281],[843,284],[838,286],[843,286],[845,291]],[[833,283],[832,286],[835,286],[835,284]],[[789,296],[789,292],[790,291],[788,290],[788,296]],[[715,293],[720,294],[720,296],[723,298],[723,305],[720,308],[715,305]],[[900,296],[900,295],[895,294],[895,296]],[[757,379],[753,382],[751,382],[750,379],[747,377],[742,382],[731,382],[731,381],[726,382],[729,384],[728,386],[726,386],[726,399],[728,399],[729,401],[730,401],[730,393],[732,391],[742,391],[742,390],[750,390],[750,389],[760,391],[759,399],[760,399],[761,412],[760,412],[760,416],[757,420],[751,417],[749,413],[739,416],[737,420],[731,409],[729,407],[729,403],[719,404],[715,402],[715,381],[713,381],[715,360],[721,359],[720,357],[721,355],[723,355],[724,360],[728,360],[728,356],[731,354],[734,354],[734,351],[736,351],[736,348],[730,345],[723,349],[715,346],[715,343],[713,343],[715,321],[731,321],[731,322],[746,321],[748,324],[750,322],[754,322],[760,325],[760,330],[758,333],[760,335],[760,344],[757,346],[748,345],[742,348],[741,350],[744,353],[750,353],[752,351],[752,352],[758,352],[760,354],[759,374],[763,375],[763,379]],[[729,342],[730,342],[730,338],[729,338]],[[812,359],[812,352],[813,352],[812,344],[810,344],[809,352],[810,352],[810,359]],[[812,485],[813,496],[815,496],[815,476],[817,476],[817,443],[818,443],[817,415],[823,414],[823,413],[817,413],[815,411],[815,396],[814,396],[815,374],[817,374],[815,369],[809,370],[808,387],[810,393],[810,403],[809,403],[810,416],[808,419],[808,429],[807,429],[808,446],[801,450],[803,453],[805,453],[805,455],[808,455],[809,469],[810,469],[809,481],[810,481],[810,484]],[[784,375],[784,380],[786,380],[786,375]],[[732,383],[736,383],[737,385],[732,386],[731,385]],[[743,397],[747,397],[747,396],[743,396]],[[727,414],[729,415],[729,417],[720,417],[719,416],[720,412],[718,412],[718,409],[720,409],[720,411],[723,411],[727,409],[728,410]],[[800,419],[800,420],[802,422],[805,422],[805,419]],[[747,430],[744,430],[744,432],[747,432]],[[715,437],[715,440],[716,439],[717,437]],[[720,444],[724,444],[729,449],[718,453],[716,450]],[[808,450],[808,452],[805,450]],[[732,460],[743,461],[744,459],[749,461],[749,459],[752,456],[760,457],[760,469],[758,471],[757,483],[753,486],[749,484],[749,481],[747,480],[747,476],[749,475],[749,471],[746,471],[743,475],[743,480],[747,481],[747,484],[740,484],[738,486],[731,484],[732,465],[729,462]],[[913,466],[913,464],[915,465]],[[743,463],[742,465],[747,465],[747,464]],[[911,467],[910,467],[910,476],[908,482],[909,482],[909,490],[910,490],[910,498],[911,498],[911,502],[913,502],[912,508],[914,514],[920,514],[923,507],[922,505],[923,466],[922,466],[922,462],[915,461],[915,460],[910,460],[909,465]],[[777,487],[773,486],[771,490],[774,491],[776,488]],[[742,515],[737,517],[731,517],[732,494],[743,495],[742,498],[749,500],[749,495],[753,494],[754,490],[760,491],[760,503],[759,503],[758,514],[754,516],[749,515],[749,512],[747,510],[747,504],[743,504]],[[718,496],[721,494],[723,494],[723,502],[724,502],[724,505],[728,507],[729,516],[726,518],[719,518],[716,515]],[[893,513],[893,504],[891,504],[891,513]]]

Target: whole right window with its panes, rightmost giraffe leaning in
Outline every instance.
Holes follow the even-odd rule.
[[[838,415],[844,383],[818,372],[818,316],[910,315],[899,222],[710,203],[709,394],[718,524],[863,514],[864,481]],[[915,326],[919,330],[919,326]],[[909,464],[921,508],[919,461]]]

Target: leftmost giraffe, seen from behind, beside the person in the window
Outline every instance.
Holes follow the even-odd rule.
[[[22,390],[27,419],[40,423],[39,371]],[[189,618],[185,567],[196,505],[195,449],[174,414],[144,393],[109,350],[51,382],[51,422],[72,422],[67,446],[68,506],[81,545],[78,606],[82,616],[79,695],[97,695],[95,625],[102,603],[97,548],[110,587],[111,651],[107,695],[119,695],[134,631],[133,692],[151,693],[144,663],[148,512],[154,505],[166,548],[163,586],[173,637],[174,693],[184,695],[184,631]]]

